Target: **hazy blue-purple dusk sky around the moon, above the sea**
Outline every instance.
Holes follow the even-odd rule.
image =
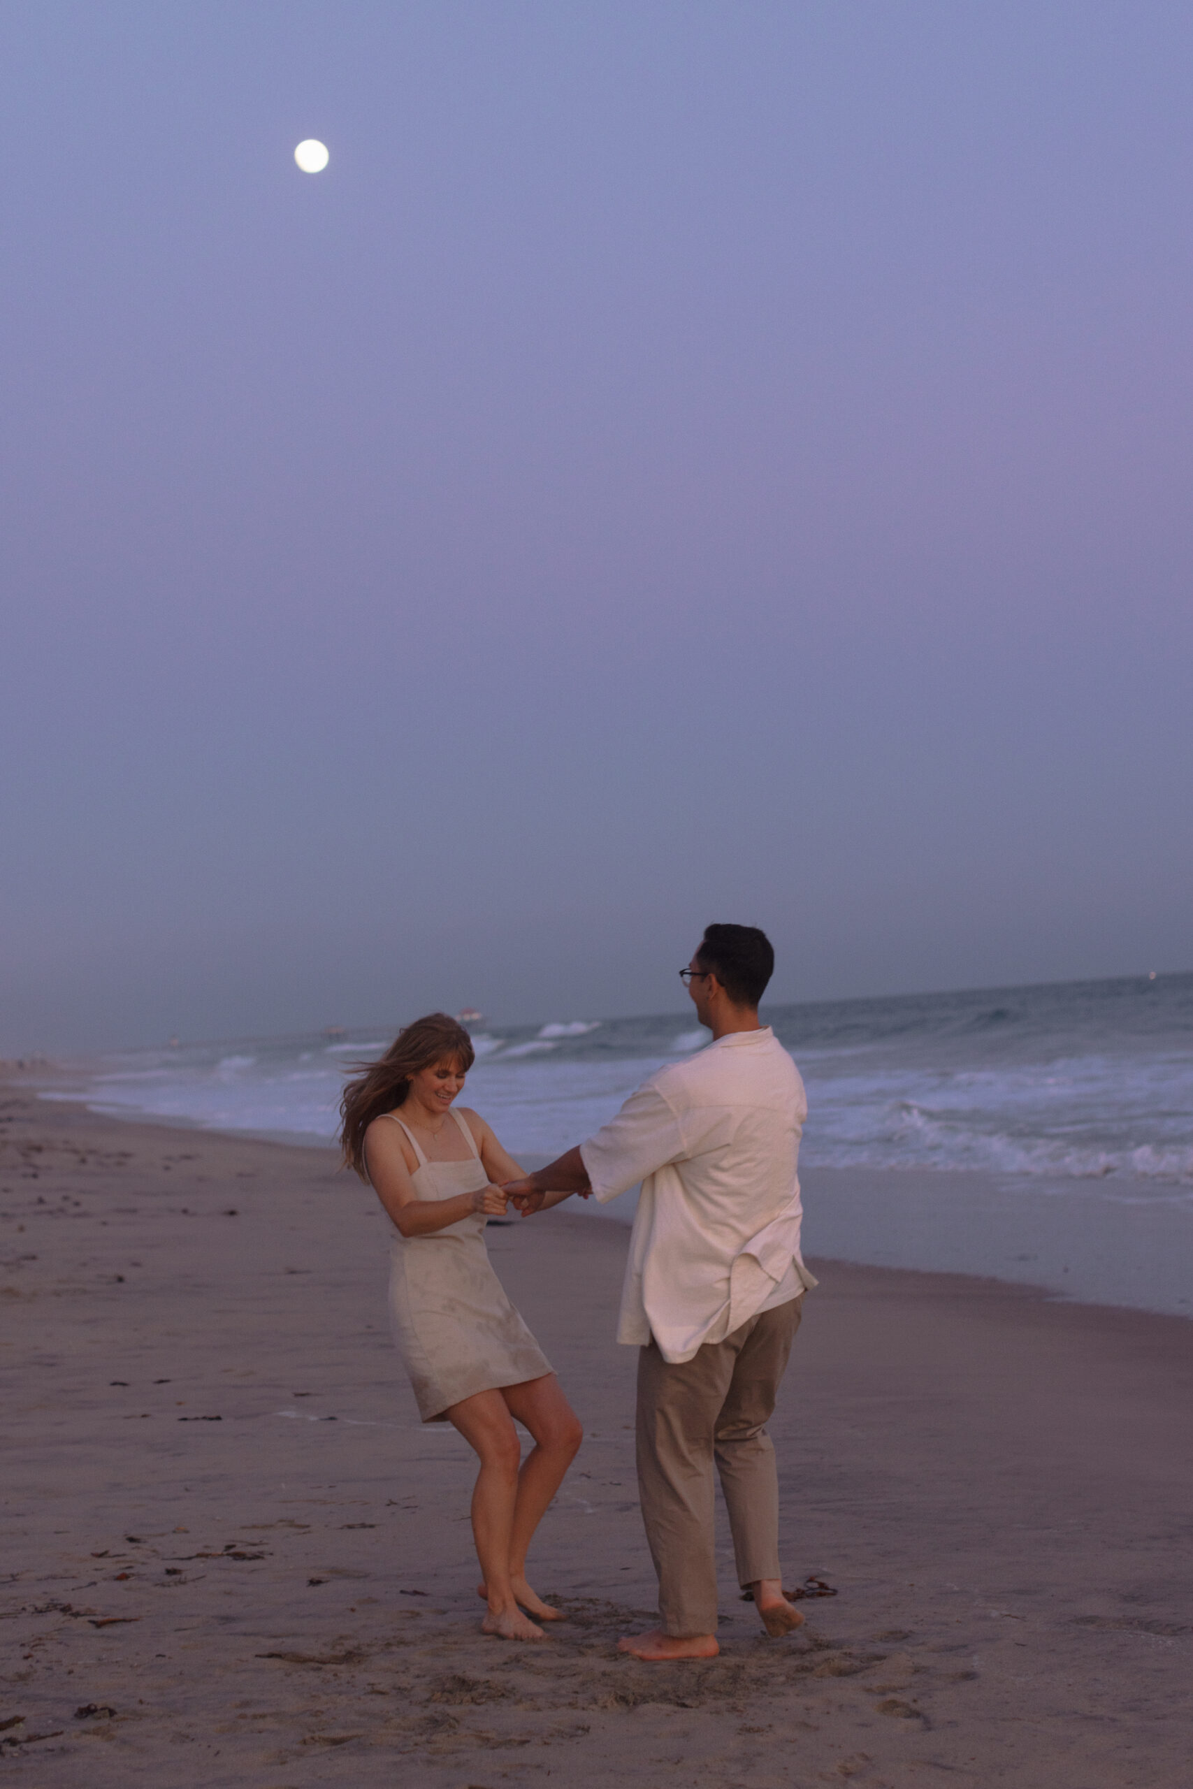
[[[1191,82],[1188,0],[7,0],[0,1052],[678,1011],[708,920],[1193,968]]]

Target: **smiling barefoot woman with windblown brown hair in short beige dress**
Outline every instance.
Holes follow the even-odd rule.
[[[485,1633],[540,1641],[558,1610],[526,1581],[526,1549],[583,1431],[533,1335],[488,1265],[485,1224],[522,1177],[483,1118],[453,1104],[472,1068],[467,1030],[431,1013],[343,1090],[343,1159],[393,1220],[390,1313],[424,1422],[476,1449],[472,1535]],[[535,1446],[522,1462],[515,1419]],[[519,1469],[520,1465],[520,1469]],[[519,1607],[520,1605],[520,1607]]]

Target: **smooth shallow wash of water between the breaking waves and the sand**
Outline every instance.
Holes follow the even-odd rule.
[[[20,1090],[38,1106],[79,1107],[97,1122],[336,1154],[315,1134],[222,1131],[186,1118],[102,1111],[82,1093],[21,1086],[9,1064],[0,1064],[0,1088]],[[528,1172],[551,1159],[533,1150],[515,1154]],[[1125,1181],[1118,1199],[1093,1199],[1071,1181],[977,1170],[801,1166],[800,1183],[808,1258],[994,1279],[1068,1304],[1193,1320],[1193,1202],[1152,1183]],[[628,1227],[635,1204],[637,1191],[630,1191],[615,1206],[578,1209]],[[1141,1209],[1154,1233],[1146,1252],[1139,1251]],[[1123,1292],[1132,1295],[1114,1295]]]

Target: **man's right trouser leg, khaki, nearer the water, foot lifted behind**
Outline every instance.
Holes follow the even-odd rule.
[[[803,1299],[791,1299],[753,1317],[721,1344],[739,1344],[714,1447],[742,1587],[780,1576],[778,1471],[766,1422],[774,1410],[801,1315]]]

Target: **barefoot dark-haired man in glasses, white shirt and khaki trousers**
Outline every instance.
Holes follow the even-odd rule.
[[[766,1433],[816,1285],[800,1258],[803,1082],[758,1023],[773,970],[757,927],[710,925],[680,975],[712,1043],[651,1075],[587,1143],[506,1186],[529,1217],[642,1181],[617,1340],[640,1351],[639,1496],[662,1626],[619,1642],[637,1658],[717,1653],[714,1460],[742,1589],[767,1633],[803,1623],[783,1596]]]

